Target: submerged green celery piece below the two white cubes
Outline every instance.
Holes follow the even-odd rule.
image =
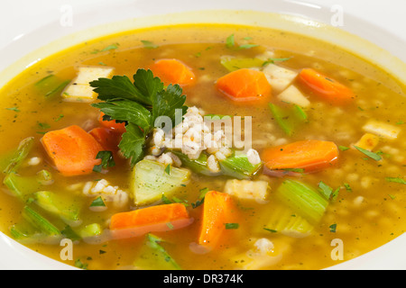
[[[269,103],[269,107],[275,121],[288,136],[291,136],[300,124],[308,121],[306,112],[298,105],[284,108]]]

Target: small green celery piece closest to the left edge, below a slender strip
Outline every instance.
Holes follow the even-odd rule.
[[[8,188],[8,190],[14,194],[17,198],[25,201],[26,198],[38,189],[40,189],[41,184],[38,182],[35,176],[19,176],[14,173],[5,175],[3,179],[3,184]]]

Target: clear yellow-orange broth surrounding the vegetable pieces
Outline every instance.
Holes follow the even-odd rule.
[[[237,42],[250,37],[250,43],[261,46],[237,51],[227,49],[226,38],[231,34],[235,35]],[[147,49],[143,47],[142,40],[152,41],[158,47]],[[112,44],[117,49],[100,51]],[[296,70],[314,67],[345,83],[355,92],[355,102],[342,108],[310,95],[309,122],[291,137],[279,129],[267,105],[230,104],[214,86],[217,78],[227,73],[220,64],[220,57],[234,55],[252,58],[265,50],[274,50],[276,58],[290,58],[281,63],[284,67]],[[398,139],[380,142],[377,150],[383,151],[383,160],[379,162],[366,159],[363,154],[349,149],[340,151],[336,166],[316,174],[296,177],[315,186],[323,181],[334,189],[341,187],[337,200],[329,203],[328,211],[309,237],[291,238],[261,229],[264,219],[279,205],[273,199],[272,192],[281,184],[281,178],[259,175],[260,179],[270,183],[268,202],[236,200],[243,222],[233,231],[235,237],[222,239],[219,247],[208,254],[200,255],[190,248],[190,244],[198,238],[202,207],[189,207],[190,215],[194,218],[191,225],[154,233],[166,240],[162,246],[183,269],[244,268],[245,253],[252,249],[256,238],[269,238],[274,244],[275,261],[259,269],[320,269],[358,257],[404,232],[406,186],[385,181],[386,177],[405,175],[404,86],[370,61],[326,42],[288,32],[233,25],[184,25],[124,32],[63,50],[27,68],[1,90],[0,133],[4,140],[0,142],[0,153],[5,155],[16,148],[22,139],[35,137],[35,148],[29,158],[40,157],[42,162],[37,166],[23,166],[19,174],[32,176],[42,169],[51,171],[54,183],[38,189],[75,197],[81,206],[83,225],[97,222],[108,229],[108,220],[117,210],[111,207],[103,212],[88,210],[92,199],[82,195],[81,187],[87,181],[104,178],[129,192],[130,166],[126,160],[122,160],[104,175],[59,175],[40,143],[43,133],[72,124],[89,130],[97,126],[99,112],[89,103],[67,103],[60,96],[44,100],[43,95],[36,92],[34,83],[50,74],[73,79],[77,67],[81,65],[115,67],[115,75],[132,78],[138,68],[148,67],[159,58],[178,58],[193,69],[197,83],[183,89],[189,106],[196,105],[208,113],[253,116],[253,148],[260,153],[263,148],[277,143],[301,139],[324,139],[334,141],[338,146],[350,147],[364,134],[362,126],[369,119],[401,127]],[[278,103],[278,100],[273,97],[272,102]],[[189,203],[196,202],[200,189],[208,187],[222,192],[225,182],[225,177],[192,175],[190,183],[180,189],[177,196]],[[347,190],[344,184],[349,184],[351,189]],[[122,211],[133,208],[128,205]],[[10,235],[9,227],[21,220],[22,209],[23,202],[7,192],[3,184],[0,193],[0,229],[5,234]],[[336,231],[331,230],[333,224],[337,225]],[[331,243],[337,238],[344,243],[343,260],[333,260],[331,257],[334,249]],[[72,260],[60,259],[62,247],[59,243],[27,246],[71,266],[75,266],[79,259],[88,269],[132,269],[143,242],[144,237],[125,240],[102,238],[97,243],[80,241],[73,247]]]

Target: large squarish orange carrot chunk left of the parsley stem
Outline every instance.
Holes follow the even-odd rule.
[[[103,148],[87,131],[72,125],[46,133],[42,146],[62,175],[87,175],[100,165],[97,153]]]

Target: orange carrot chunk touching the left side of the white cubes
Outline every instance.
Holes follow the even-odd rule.
[[[217,79],[217,89],[235,102],[264,103],[272,96],[272,86],[262,71],[238,69]]]

